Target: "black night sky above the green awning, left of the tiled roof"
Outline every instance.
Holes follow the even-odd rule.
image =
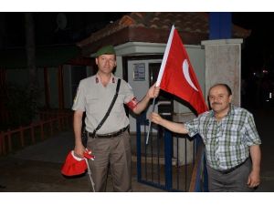
[[[66,27],[58,28],[58,15],[65,15]],[[120,12],[35,12],[37,46],[74,44],[115,21],[126,13]],[[0,13],[0,38],[2,47],[25,46],[24,13]],[[1,40],[1,39],[0,39]],[[1,47],[1,46],[0,46]]]

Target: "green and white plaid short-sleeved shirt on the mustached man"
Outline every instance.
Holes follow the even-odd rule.
[[[205,143],[207,165],[217,170],[236,167],[249,157],[249,146],[261,143],[252,114],[233,105],[221,121],[210,110],[184,126],[190,137],[200,134]]]

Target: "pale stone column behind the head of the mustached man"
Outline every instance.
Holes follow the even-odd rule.
[[[240,106],[242,39],[202,41],[205,46],[205,96],[216,83],[232,89],[232,103]]]

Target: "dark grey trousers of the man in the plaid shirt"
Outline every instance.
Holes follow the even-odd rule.
[[[215,169],[207,168],[208,189],[212,192],[247,192],[254,191],[248,188],[248,176],[251,171],[251,160],[248,159],[237,169],[229,173],[222,173]]]

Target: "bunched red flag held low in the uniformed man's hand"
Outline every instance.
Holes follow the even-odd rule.
[[[75,156],[74,151],[68,153],[67,159],[61,169],[61,173],[65,176],[75,176],[83,174],[88,169],[84,158]]]

